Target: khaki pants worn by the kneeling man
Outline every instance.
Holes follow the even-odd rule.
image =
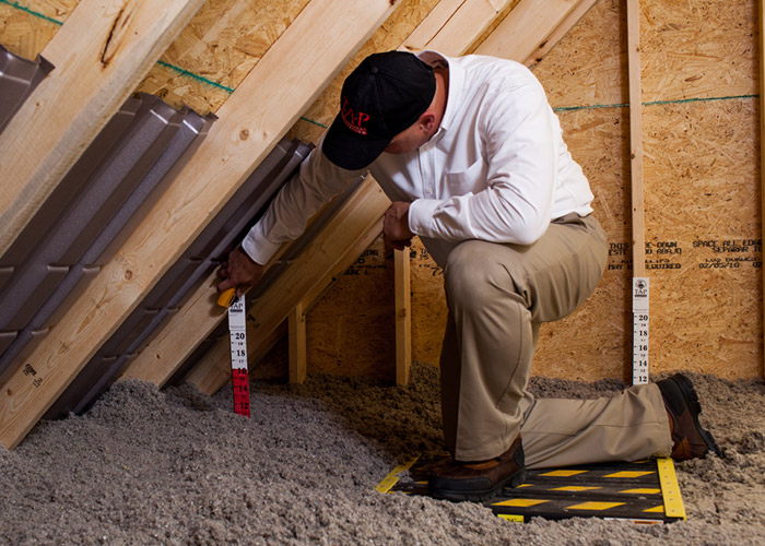
[[[590,401],[534,401],[526,390],[540,324],[585,301],[607,254],[598,222],[576,214],[554,221],[533,245],[469,240],[451,251],[440,376],[444,435],[456,460],[497,456],[519,432],[529,467],[669,454],[656,385]]]

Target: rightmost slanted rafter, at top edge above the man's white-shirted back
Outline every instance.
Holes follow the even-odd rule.
[[[539,54],[578,3],[578,0],[521,0],[475,52],[525,62]]]

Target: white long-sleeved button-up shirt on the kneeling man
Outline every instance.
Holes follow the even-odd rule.
[[[531,71],[483,56],[420,58],[449,70],[440,126],[417,150],[382,153],[368,170],[391,201],[411,202],[409,227],[436,263],[467,239],[530,245],[551,221],[592,212],[587,178]],[[245,251],[266,263],[321,204],[364,175],[332,165],[319,144],[247,235]]]

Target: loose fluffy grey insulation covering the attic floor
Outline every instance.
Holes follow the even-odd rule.
[[[513,523],[480,505],[375,490],[442,450],[438,370],[409,388],[310,375],[251,380],[251,415],[188,384],[116,383],[83,416],[0,446],[0,544],[684,545],[765,542],[765,382],[690,375],[722,458],[679,463],[687,521]],[[540,396],[624,385],[532,380]]]

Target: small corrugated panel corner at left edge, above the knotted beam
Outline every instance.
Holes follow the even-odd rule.
[[[0,46],[0,132],[51,70],[54,66],[39,55],[31,61]]]

